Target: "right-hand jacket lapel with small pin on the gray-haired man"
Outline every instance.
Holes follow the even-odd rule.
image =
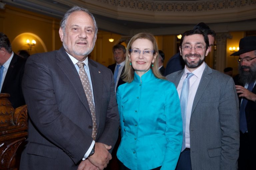
[[[93,97],[96,110],[97,126],[100,124],[101,100],[103,94],[103,75],[98,66],[91,60],[88,60],[90,75],[92,80]]]

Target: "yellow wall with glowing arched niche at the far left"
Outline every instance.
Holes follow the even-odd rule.
[[[37,42],[30,54],[60,48],[62,43],[58,35],[59,21],[8,5],[4,10],[0,10],[0,31],[8,36],[14,52],[20,49],[27,50],[27,39],[34,39]]]

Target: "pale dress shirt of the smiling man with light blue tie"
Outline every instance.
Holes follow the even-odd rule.
[[[205,62],[203,62],[203,64],[201,64],[197,69],[195,69],[192,72],[194,75],[189,79],[189,95],[188,95],[188,105],[187,105],[187,114],[186,114],[186,130],[185,130],[186,148],[190,148],[189,125],[190,125],[191,111],[192,111],[192,106],[194,103],[196,91],[199,86],[204,68],[205,68]],[[188,72],[190,72],[190,71],[188,71],[187,67],[185,66],[185,71],[184,71],[183,75],[181,76],[179,85],[177,87],[179,97],[180,97],[183,82],[184,82],[185,78],[187,77]]]

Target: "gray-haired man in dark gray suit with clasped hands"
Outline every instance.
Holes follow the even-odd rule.
[[[59,29],[63,47],[27,59],[30,119],[20,170],[103,169],[112,158],[119,127],[113,75],[87,57],[97,30],[88,10],[72,7]]]

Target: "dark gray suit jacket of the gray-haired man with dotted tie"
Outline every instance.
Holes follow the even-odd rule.
[[[96,142],[114,147],[119,114],[112,72],[89,59],[98,133]],[[28,58],[22,88],[29,112],[21,170],[76,170],[92,143],[92,118],[78,72],[65,52]],[[97,151],[96,151],[97,152]]]

